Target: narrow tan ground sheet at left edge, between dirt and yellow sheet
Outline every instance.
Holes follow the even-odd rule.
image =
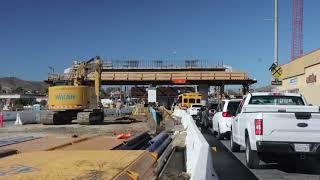
[[[88,139],[88,137],[72,138],[72,137],[46,136],[40,139],[3,146],[3,147],[0,147],[0,150],[15,149],[15,150],[18,150],[19,152],[46,151],[46,150],[51,150],[67,144],[83,141],[86,139]]]

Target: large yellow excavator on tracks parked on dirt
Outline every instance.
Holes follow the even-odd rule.
[[[77,63],[69,77],[48,77],[48,110],[40,115],[42,124],[101,124],[104,113],[100,103],[102,60],[99,56]],[[88,76],[94,76],[94,81]]]

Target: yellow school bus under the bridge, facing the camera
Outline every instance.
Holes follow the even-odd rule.
[[[192,104],[201,104],[201,94],[194,93],[183,93],[178,96],[178,103],[180,108],[189,108]]]

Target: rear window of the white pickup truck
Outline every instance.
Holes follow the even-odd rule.
[[[252,96],[249,104],[254,105],[305,105],[298,96]]]

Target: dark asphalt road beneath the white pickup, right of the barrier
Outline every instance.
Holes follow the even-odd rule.
[[[224,179],[267,179],[267,180],[320,180],[320,160],[285,160],[281,164],[262,162],[260,169],[249,170],[245,166],[245,153],[232,153],[230,141],[219,141],[209,131],[203,132],[213,152],[213,165],[221,180]]]

